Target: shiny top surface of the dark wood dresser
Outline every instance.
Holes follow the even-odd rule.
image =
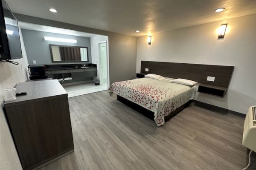
[[[31,100],[51,98],[54,96],[67,95],[67,92],[58,82],[58,80],[42,80],[32,82],[20,82],[15,87],[16,92],[24,92],[27,94],[16,96],[17,99],[10,102],[5,102],[4,105],[12,105],[18,102],[29,102]]]

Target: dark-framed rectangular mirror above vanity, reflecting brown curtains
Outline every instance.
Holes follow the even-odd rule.
[[[52,62],[88,62],[88,47],[49,45]]]

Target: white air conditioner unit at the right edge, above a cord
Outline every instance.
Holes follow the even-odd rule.
[[[245,117],[242,144],[256,152],[256,106],[250,107]]]

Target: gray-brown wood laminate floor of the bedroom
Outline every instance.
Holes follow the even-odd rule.
[[[244,118],[189,106],[157,127],[109,96],[69,99],[75,152],[41,170],[242,170]],[[256,168],[255,156],[249,170]]]

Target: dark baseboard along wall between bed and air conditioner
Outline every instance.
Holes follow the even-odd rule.
[[[246,116],[246,114],[243,114],[243,113],[239,113],[239,112],[236,112],[236,111],[231,111],[231,110],[228,110],[228,109],[225,109],[225,108],[210,105],[210,104],[207,104],[207,103],[204,103],[204,102],[199,102],[199,101],[196,101],[196,100],[193,100],[192,105],[195,105],[195,106],[198,106],[198,107],[201,107],[201,108],[206,108],[206,109],[216,111],[216,112],[219,112],[219,113],[223,113],[223,114],[230,113],[230,114],[235,114],[235,115],[238,115],[238,116],[241,116],[241,117]]]

